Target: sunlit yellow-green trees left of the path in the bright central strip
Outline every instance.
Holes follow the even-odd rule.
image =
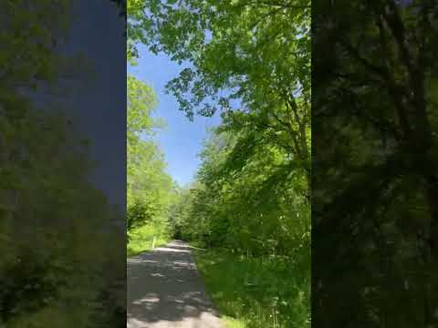
[[[164,171],[161,150],[153,136],[162,122],[152,118],[157,100],[151,87],[128,76],[127,228],[130,245],[146,247],[153,237],[168,236],[168,211],[174,197],[172,178]],[[149,229],[145,226],[149,226]],[[145,235],[145,231],[150,231]],[[147,247],[146,247],[147,248]]]

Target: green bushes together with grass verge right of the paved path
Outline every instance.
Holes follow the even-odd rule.
[[[272,146],[254,145],[239,159],[238,141],[212,133],[196,181],[173,208],[172,229],[204,249],[195,251],[196,264],[230,327],[309,326],[306,178],[282,171],[290,161]]]

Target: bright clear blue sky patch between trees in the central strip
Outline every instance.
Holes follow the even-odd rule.
[[[166,95],[164,86],[177,77],[182,67],[172,62],[166,55],[155,56],[145,46],[139,47],[140,59],[135,67],[128,67],[128,73],[148,83],[158,97],[158,107],[154,116],[164,118],[166,128],[156,137],[167,162],[167,172],[180,186],[193,179],[200,164],[197,154],[203,148],[203,139],[208,128],[216,126],[220,117],[203,118],[196,116],[191,122],[179,110],[172,95]]]

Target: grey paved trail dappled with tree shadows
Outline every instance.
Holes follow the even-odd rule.
[[[172,241],[128,259],[128,328],[224,328],[190,246]]]

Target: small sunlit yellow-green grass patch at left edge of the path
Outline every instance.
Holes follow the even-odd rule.
[[[130,231],[130,242],[127,247],[128,257],[135,256],[143,251],[151,251],[153,237],[156,237],[155,247],[159,247],[169,241],[167,234],[161,233],[160,230],[152,224]]]

